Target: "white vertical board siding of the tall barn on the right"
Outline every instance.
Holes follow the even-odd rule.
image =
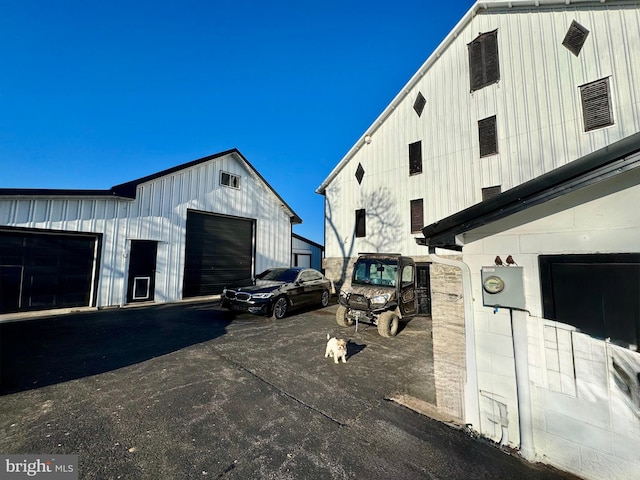
[[[579,56],[562,45],[574,20],[589,30]],[[493,30],[500,81],[470,92],[467,45]],[[639,32],[637,3],[480,8],[438,47],[326,185],[327,258],[420,255],[411,200],[424,199],[429,225],[480,202],[482,188],[508,190],[640,131]],[[579,87],[603,78],[614,124],[585,133]],[[426,98],[421,116],[413,109],[418,92]],[[498,153],[480,158],[478,121],[493,115]],[[410,176],[409,144],[418,141],[422,173]],[[365,171],[361,184],[358,165]],[[354,212],[361,208],[367,235],[355,238]]]

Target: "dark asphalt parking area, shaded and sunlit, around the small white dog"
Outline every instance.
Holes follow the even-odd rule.
[[[389,339],[335,309],[0,323],[0,452],[77,454],[83,479],[560,478],[392,400],[435,399],[428,317]],[[327,333],[349,339],[346,364],[324,358]]]

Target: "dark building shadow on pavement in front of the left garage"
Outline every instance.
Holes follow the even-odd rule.
[[[158,305],[0,323],[0,395],[134,365],[226,333],[215,304]]]

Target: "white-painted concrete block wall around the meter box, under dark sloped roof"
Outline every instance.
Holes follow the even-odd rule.
[[[596,193],[591,200],[586,191],[576,193],[584,201],[567,198],[546,215],[530,211],[531,221],[522,225],[466,238],[463,258],[472,271],[481,433],[519,444],[509,312],[494,313],[482,305],[480,275],[496,255],[504,259],[511,254],[524,273],[528,408],[536,459],[587,479],[627,480],[640,472],[640,353],[542,316],[539,255],[639,251],[640,210],[628,205],[640,198],[640,187]],[[506,419],[500,418],[501,407]],[[507,426],[501,431],[503,420]]]

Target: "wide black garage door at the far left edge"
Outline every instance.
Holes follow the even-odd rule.
[[[97,241],[0,231],[0,313],[89,306]]]

